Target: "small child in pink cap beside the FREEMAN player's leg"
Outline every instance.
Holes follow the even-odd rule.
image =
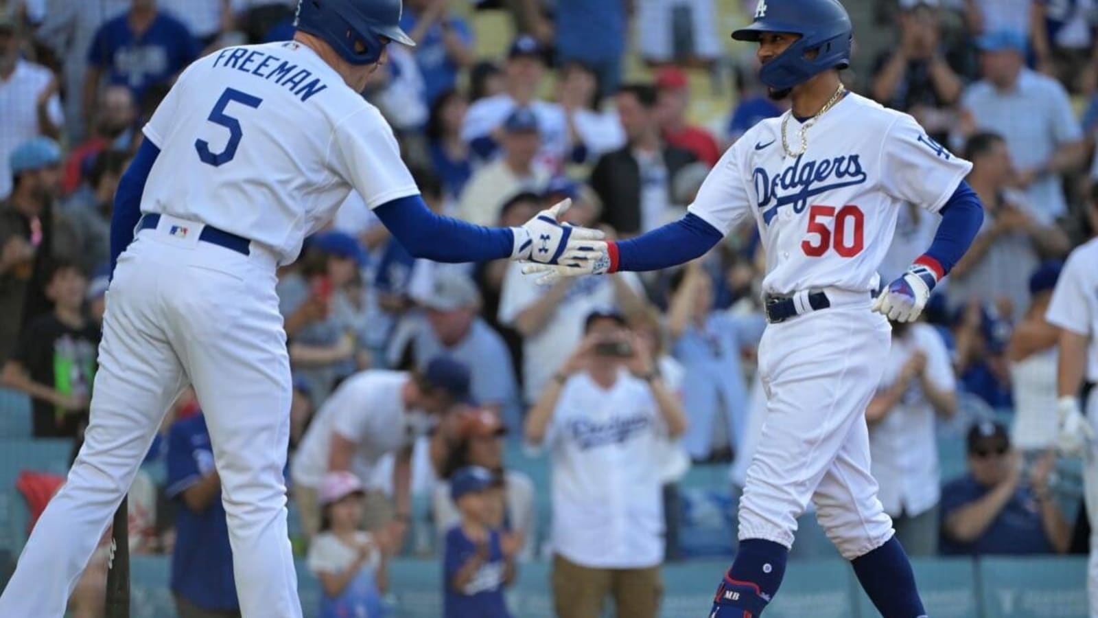
[[[309,570],[324,589],[321,618],[388,615],[381,599],[388,587],[384,553],[358,529],[363,496],[361,482],[346,471],[329,473],[321,485],[321,533],[309,548]]]

